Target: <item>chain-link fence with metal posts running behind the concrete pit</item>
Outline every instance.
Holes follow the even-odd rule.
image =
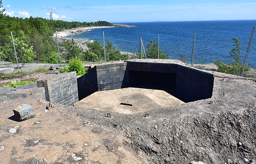
[[[76,38],[77,35],[72,35],[68,38],[58,37],[58,47],[55,34],[29,35],[29,37],[26,35],[25,37],[24,34],[14,33],[13,45],[11,34],[6,34],[5,37],[0,38],[0,59],[16,63],[14,46],[19,63],[59,63],[59,51],[61,62],[68,62],[74,57],[78,57],[83,62],[104,62],[105,56],[107,62],[141,57],[158,58],[157,34],[154,38],[141,38],[135,35],[105,33],[104,54],[102,32],[87,31],[86,33],[91,33],[97,42],[95,39],[81,39]],[[172,37],[174,38],[160,35],[159,58],[181,60],[186,65],[198,69],[256,78],[255,37],[252,38],[246,64],[250,36],[248,39],[238,38],[238,40],[235,38],[208,40],[205,36],[197,34],[195,42],[192,37],[189,41],[187,38]],[[195,45],[194,49],[193,45]],[[118,53],[117,49],[121,53]],[[194,54],[193,64],[192,54]],[[243,69],[245,73],[242,75]]]

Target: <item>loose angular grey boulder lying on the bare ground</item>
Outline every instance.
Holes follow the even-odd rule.
[[[18,121],[24,121],[35,117],[35,111],[32,106],[28,104],[22,104],[12,110],[14,112],[15,118]]]

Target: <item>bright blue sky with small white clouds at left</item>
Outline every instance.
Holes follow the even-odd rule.
[[[214,3],[213,3],[214,2]],[[80,22],[255,20],[256,0],[3,0],[5,14]]]

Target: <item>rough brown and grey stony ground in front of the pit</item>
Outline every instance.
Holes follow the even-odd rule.
[[[0,163],[255,164],[256,80],[214,75],[212,98],[148,110],[149,117],[61,104],[46,112],[39,98],[0,102]],[[17,122],[12,109],[24,103],[36,117]]]

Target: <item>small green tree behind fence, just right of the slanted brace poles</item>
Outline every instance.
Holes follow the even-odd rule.
[[[158,43],[155,43],[152,40],[150,40],[150,42],[147,45],[146,55],[147,58],[157,59]],[[163,51],[159,48],[159,59],[169,59],[169,54],[163,54]]]

